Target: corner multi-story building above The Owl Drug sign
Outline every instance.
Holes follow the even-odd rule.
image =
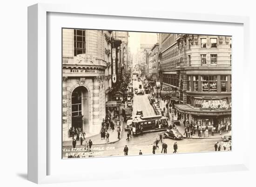
[[[231,37],[162,33],[160,51],[162,89],[177,90],[176,110],[195,123],[230,123]]]

